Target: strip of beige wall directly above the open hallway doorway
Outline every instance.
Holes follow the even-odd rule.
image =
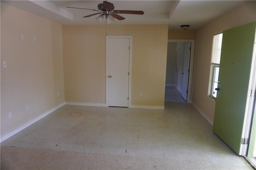
[[[196,39],[196,30],[168,30],[168,40]]]

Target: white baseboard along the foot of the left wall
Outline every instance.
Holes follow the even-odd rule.
[[[27,123],[21,125],[20,127],[12,130],[11,132],[7,133],[7,134],[4,134],[3,136],[0,137],[0,142],[10,138],[11,136],[13,136],[14,134],[20,132],[21,130],[23,130],[24,128],[32,125],[33,123],[39,121],[40,119],[46,117],[47,115],[49,115],[50,113],[56,111],[57,109],[59,109],[60,107],[64,106],[65,105],[65,102],[57,105],[56,107],[46,111],[45,113],[43,113],[42,115],[39,115],[38,117],[35,117],[34,119],[31,119],[30,121],[28,121]]]

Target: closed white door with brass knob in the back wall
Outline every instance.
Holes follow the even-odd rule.
[[[108,106],[129,106],[130,38],[108,38]]]

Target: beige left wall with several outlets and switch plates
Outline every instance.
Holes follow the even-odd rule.
[[[1,136],[64,102],[62,26],[1,3],[2,61]]]

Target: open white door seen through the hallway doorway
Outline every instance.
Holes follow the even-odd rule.
[[[184,62],[183,62],[183,76],[182,76],[182,89],[181,95],[185,101],[188,100],[188,77],[189,77],[189,64],[190,64],[190,46],[191,42],[184,44]]]

